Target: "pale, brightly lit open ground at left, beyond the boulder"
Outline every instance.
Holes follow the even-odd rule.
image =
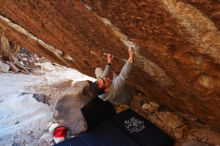
[[[33,98],[28,86],[53,84],[62,80],[94,80],[80,72],[61,66],[42,64],[43,75],[0,73],[0,145],[13,143],[25,146],[38,145],[39,138],[52,121],[52,111],[47,104]],[[32,92],[30,92],[32,93]]]

